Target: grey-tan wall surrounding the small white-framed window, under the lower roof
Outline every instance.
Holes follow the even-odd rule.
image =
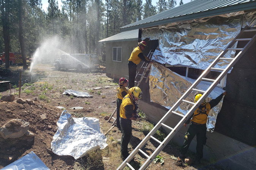
[[[108,77],[119,79],[125,77],[128,79],[128,59],[134,47],[137,47],[138,41],[121,41],[106,43],[106,75]],[[116,62],[112,59],[113,47],[122,47],[122,62]]]

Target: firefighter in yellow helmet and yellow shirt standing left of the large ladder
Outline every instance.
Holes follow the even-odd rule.
[[[128,90],[128,94],[123,97],[120,106],[120,125],[122,129],[121,139],[121,154],[122,159],[125,160],[128,153],[128,144],[131,140],[131,120],[137,119],[136,101],[141,99],[142,91],[139,87],[132,87]]]

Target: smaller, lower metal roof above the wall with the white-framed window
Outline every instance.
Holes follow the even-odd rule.
[[[114,36],[108,37],[106,39],[100,40],[99,42],[115,42],[115,41],[131,41],[138,40],[139,29],[134,29],[131,31],[120,32]]]

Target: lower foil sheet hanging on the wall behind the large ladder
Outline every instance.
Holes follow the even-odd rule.
[[[194,81],[194,79],[181,76],[162,65],[153,63],[149,75],[150,101],[170,109],[192,85],[192,83],[194,83]],[[210,82],[200,82],[196,88],[206,91],[210,85]],[[215,99],[223,92],[224,90],[221,88],[215,87],[210,95],[206,98],[206,102]],[[194,102],[194,94],[191,93],[185,100]],[[209,122],[207,122],[208,131],[213,132],[214,130],[216,119],[222,107],[222,103],[223,99],[218,105],[210,110]],[[182,104],[175,111],[186,114],[190,108],[190,104],[182,102]]]

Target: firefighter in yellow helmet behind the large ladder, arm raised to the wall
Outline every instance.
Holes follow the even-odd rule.
[[[223,95],[226,95],[226,91],[222,93],[220,96],[218,96],[216,99],[211,100],[210,102],[204,102],[194,111],[194,114],[185,122],[184,126],[187,127],[187,125],[190,123],[190,127],[188,128],[188,131],[185,133],[185,141],[182,146],[181,150],[181,158],[185,158],[185,154],[188,151],[188,147],[196,135],[196,159],[195,164],[200,163],[201,158],[203,157],[203,147],[206,144],[206,123],[208,119],[208,114],[210,110],[215,107],[220,100],[222,99]],[[197,102],[202,94],[198,93],[195,95],[194,101]]]

